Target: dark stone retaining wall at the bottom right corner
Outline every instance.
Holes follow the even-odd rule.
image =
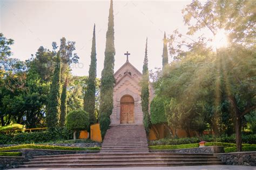
[[[256,152],[232,152],[215,154],[227,165],[252,165],[256,166]]]

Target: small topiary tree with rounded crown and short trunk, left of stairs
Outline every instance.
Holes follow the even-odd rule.
[[[89,114],[84,110],[74,110],[66,117],[66,127],[73,132],[73,139],[76,140],[76,132],[87,130],[89,127]]]

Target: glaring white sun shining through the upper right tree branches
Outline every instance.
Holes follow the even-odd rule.
[[[228,44],[227,35],[225,30],[221,29],[217,32],[217,34],[213,38],[213,47],[215,49],[219,49],[221,47],[226,47]]]

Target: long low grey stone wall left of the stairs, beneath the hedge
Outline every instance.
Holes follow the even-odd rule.
[[[22,157],[24,157],[26,160],[28,160],[35,156],[41,156],[41,155],[98,153],[99,151],[62,151],[62,150],[52,150],[52,149],[29,149],[28,148],[28,149],[15,149],[15,150],[6,151],[6,152],[21,152]]]

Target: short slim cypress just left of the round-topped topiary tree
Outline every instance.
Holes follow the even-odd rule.
[[[66,77],[65,83],[62,87],[62,95],[60,96],[60,116],[59,116],[59,126],[64,127],[66,121],[66,87],[68,86],[68,77]]]

